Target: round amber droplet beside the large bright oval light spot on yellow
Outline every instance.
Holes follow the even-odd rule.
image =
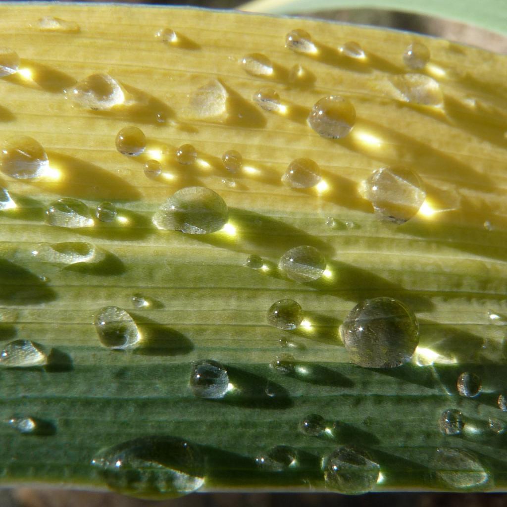
[[[323,97],[312,107],[308,115],[308,125],[322,137],[339,139],[345,137],[354,126],[355,108],[350,100],[329,95]]]

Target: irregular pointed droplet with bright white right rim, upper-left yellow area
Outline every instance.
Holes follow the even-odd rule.
[[[68,90],[67,96],[94,111],[107,111],[125,102],[125,92],[118,81],[107,74],[92,74]]]

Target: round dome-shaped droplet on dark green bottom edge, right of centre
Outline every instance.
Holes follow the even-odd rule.
[[[372,491],[380,477],[380,465],[366,451],[350,446],[335,449],[322,462],[325,487],[348,495]]]

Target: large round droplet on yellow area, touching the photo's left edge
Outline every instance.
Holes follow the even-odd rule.
[[[7,139],[0,152],[2,171],[17,179],[33,179],[44,174],[48,156],[41,144],[25,135]]]

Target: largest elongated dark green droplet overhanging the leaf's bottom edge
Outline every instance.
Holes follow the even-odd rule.
[[[174,437],[141,437],[99,451],[92,465],[106,484],[146,499],[182,496],[204,484],[203,458],[189,442]]]

